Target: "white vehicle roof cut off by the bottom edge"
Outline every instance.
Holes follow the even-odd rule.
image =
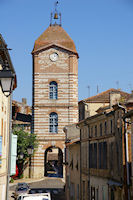
[[[51,200],[50,193],[40,193],[40,194],[21,194],[18,196],[17,200]]]

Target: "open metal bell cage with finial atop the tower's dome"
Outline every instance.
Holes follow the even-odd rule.
[[[58,4],[59,4],[59,1],[56,1],[55,9],[53,12],[51,12],[50,26],[57,25],[57,24],[61,26],[61,13],[59,13],[57,10]]]

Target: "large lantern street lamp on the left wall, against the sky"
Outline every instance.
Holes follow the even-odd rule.
[[[4,68],[0,70],[0,85],[2,92],[6,97],[10,96],[12,93],[14,78],[15,75],[8,67],[4,66]]]

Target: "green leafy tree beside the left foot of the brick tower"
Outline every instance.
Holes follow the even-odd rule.
[[[13,134],[17,135],[17,167],[20,176],[28,165],[31,156],[28,154],[27,149],[28,147],[32,147],[34,154],[38,147],[38,140],[35,134],[30,134],[18,126],[13,129]]]

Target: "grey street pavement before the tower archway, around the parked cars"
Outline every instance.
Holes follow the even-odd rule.
[[[9,200],[14,200],[14,198],[12,198],[11,196],[18,182],[28,183],[31,189],[31,193],[50,192],[52,200],[65,200],[64,180],[61,178],[53,177],[45,177],[41,180],[21,179],[15,181],[15,183],[10,184]]]

